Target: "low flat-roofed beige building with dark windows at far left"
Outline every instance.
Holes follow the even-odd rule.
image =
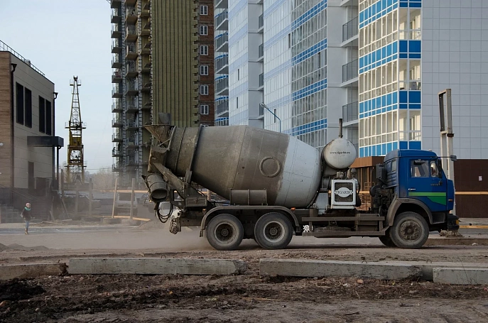
[[[0,208],[50,206],[51,189],[58,189],[56,148],[63,147],[55,136],[55,97],[53,82],[0,41]]]

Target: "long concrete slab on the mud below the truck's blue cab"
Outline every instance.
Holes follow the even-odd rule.
[[[397,265],[394,263],[260,259],[259,274],[294,277],[341,276],[401,280],[421,277],[422,270],[414,265]]]

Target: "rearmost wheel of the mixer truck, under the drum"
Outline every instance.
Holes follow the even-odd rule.
[[[217,250],[235,250],[244,237],[241,221],[232,214],[219,214],[207,226],[207,241]]]

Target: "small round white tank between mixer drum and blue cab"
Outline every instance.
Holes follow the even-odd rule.
[[[356,160],[356,147],[345,138],[336,138],[322,150],[322,159],[335,170],[344,170]]]

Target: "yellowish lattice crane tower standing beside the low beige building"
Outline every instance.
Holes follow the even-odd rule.
[[[66,182],[85,183],[85,160],[83,159],[83,141],[82,130],[87,127],[82,122],[80,110],[80,97],[78,87],[81,87],[81,81],[78,77],[73,76],[70,81],[72,90],[71,115],[70,121],[65,128],[70,131],[70,143],[67,146],[67,165],[66,165]]]

